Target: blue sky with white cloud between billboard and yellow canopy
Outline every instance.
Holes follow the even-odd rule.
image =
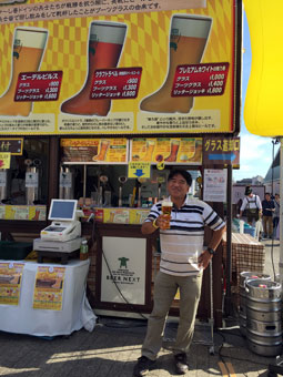
[[[243,61],[242,61],[242,110],[241,110],[241,132],[240,132],[240,170],[233,170],[233,180],[252,179],[256,175],[265,177],[273,157],[273,139],[262,137],[250,133],[244,124],[243,110],[245,92],[251,71],[251,41],[247,20],[244,13],[243,19]],[[279,150],[279,144],[274,146],[274,155]],[[260,161],[260,163],[259,163]]]

